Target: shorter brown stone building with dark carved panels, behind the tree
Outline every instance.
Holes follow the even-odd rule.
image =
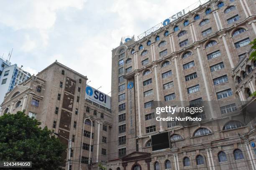
[[[113,117],[108,108],[85,100],[86,82],[86,76],[56,61],[8,92],[0,115],[26,110],[67,146],[64,138],[72,140],[66,170],[87,170],[91,163],[107,161]],[[64,158],[68,160],[69,154]]]

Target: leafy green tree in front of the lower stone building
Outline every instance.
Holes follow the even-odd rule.
[[[32,161],[33,170],[60,170],[67,148],[47,127],[23,112],[0,117],[0,160]],[[29,168],[31,169],[31,168]]]

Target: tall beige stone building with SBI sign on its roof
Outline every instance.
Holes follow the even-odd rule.
[[[112,50],[109,170],[256,170],[255,11],[254,0],[210,0]],[[156,121],[169,115],[153,101],[209,107],[184,126]]]

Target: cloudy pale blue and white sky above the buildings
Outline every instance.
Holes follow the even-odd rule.
[[[111,91],[111,50],[198,0],[2,0],[0,55],[36,74],[55,60]],[[88,80],[88,81],[89,81]]]

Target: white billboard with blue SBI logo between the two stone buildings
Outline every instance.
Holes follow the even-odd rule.
[[[85,88],[85,99],[97,103],[103,107],[111,109],[110,96],[105,93],[96,90],[95,88],[87,85]]]

